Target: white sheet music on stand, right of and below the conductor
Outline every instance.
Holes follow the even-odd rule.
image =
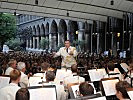
[[[91,81],[100,81],[106,75],[105,69],[92,69],[88,70]]]

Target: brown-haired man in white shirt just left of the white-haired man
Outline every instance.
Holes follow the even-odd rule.
[[[6,69],[5,75],[10,75],[10,72],[14,69],[16,69],[17,61],[14,59],[11,59],[8,63],[9,67]]]

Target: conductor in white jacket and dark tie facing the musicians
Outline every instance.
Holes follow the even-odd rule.
[[[60,48],[57,53],[54,53],[54,57],[61,56],[62,64],[61,66],[70,68],[71,65],[76,64],[75,57],[77,56],[77,51],[75,47],[70,46],[70,41],[65,41],[65,47]]]

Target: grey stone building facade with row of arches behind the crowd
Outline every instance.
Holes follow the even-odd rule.
[[[80,51],[100,53],[112,49],[130,49],[133,55],[133,14],[126,13],[123,19],[108,17],[107,22],[72,21],[45,18],[32,15],[18,15],[17,26],[20,30],[29,28],[32,36],[26,40],[26,47],[41,49],[41,40],[48,40],[47,49],[56,50],[65,40],[76,42]],[[120,34],[118,36],[118,34]]]

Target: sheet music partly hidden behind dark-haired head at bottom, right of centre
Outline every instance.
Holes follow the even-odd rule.
[[[89,83],[94,88],[94,94],[96,94],[96,89],[93,85],[93,83]],[[79,96],[79,85],[73,85],[71,86],[72,92],[74,94],[74,97],[77,98]]]

